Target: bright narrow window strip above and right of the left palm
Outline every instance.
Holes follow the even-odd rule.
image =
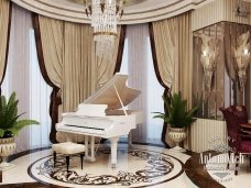
[[[37,120],[41,125],[31,126],[31,146],[46,146],[50,144],[51,131],[50,95],[52,88],[44,81],[37,60],[34,30],[30,30],[30,118]]]

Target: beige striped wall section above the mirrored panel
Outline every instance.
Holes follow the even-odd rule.
[[[247,18],[237,16],[234,8],[241,0],[214,0],[212,2],[200,7],[192,13],[192,30],[196,31],[205,26],[211,25],[220,21],[229,21],[236,23],[251,24],[251,15]],[[241,1],[247,4],[249,11],[251,3]]]

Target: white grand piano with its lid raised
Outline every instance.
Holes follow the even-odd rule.
[[[119,137],[128,135],[132,129],[137,128],[137,124],[143,122],[141,111],[129,111],[124,108],[140,95],[140,90],[127,87],[127,75],[116,74],[99,90],[78,104],[76,112],[63,113],[63,121],[56,124],[58,132],[85,135],[86,158],[88,161],[96,161],[95,136],[109,139],[111,165],[116,167]],[[88,136],[91,137],[90,157],[88,154]]]

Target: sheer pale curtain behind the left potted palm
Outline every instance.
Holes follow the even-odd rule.
[[[22,118],[41,123],[26,126],[19,133],[15,152],[48,145],[51,88],[39,69],[31,13],[14,4],[7,73],[2,85],[3,95],[9,97],[12,91],[17,92],[19,99],[19,113],[25,112]]]

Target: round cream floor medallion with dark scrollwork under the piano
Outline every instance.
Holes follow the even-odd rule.
[[[111,168],[108,147],[99,148],[96,159],[95,163],[84,162],[81,170],[80,157],[72,156],[67,173],[65,156],[57,155],[54,168],[53,156],[48,155],[31,164],[28,170],[37,181],[64,187],[149,187],[170,181],[184,172],[178,158],[162,151],[119,148],[116,168]]]

